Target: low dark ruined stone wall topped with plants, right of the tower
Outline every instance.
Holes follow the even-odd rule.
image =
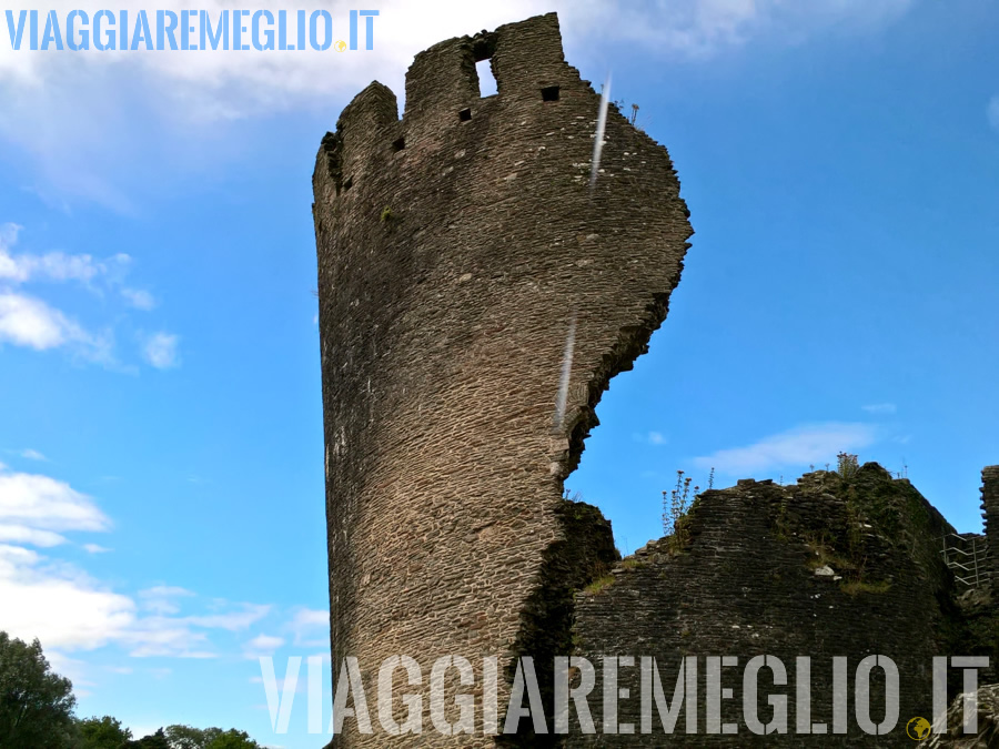
[[[937,539],[953,529],[906,479],[892,480],[867,464],[845,482],[835,473],[807,474],[795,486],[739,482],[705,492],[690,514],[690,541],[673,554],[668,539],[652,543],[616,567],[614,581],[576,601],[579,655],[597,665],[589,700],[601,725],[603,654],[652,656],[672,702],[685,655],[697,656],[699,723],[696,735],[666,736],[658,713],[654,731],[638,733],[638,668],[622,668],[619,721],[636,735],[575,733],[567,746],[909,746],[905,725],[931,715],[932,657],[961,650],[962,637],[949,601],[952,577]],[[818,555],[817,555],[818,551]],[[817,574],[828,571],[835,574]],[[743,713],[743,667],[749,657],[777,656],[790,686],[759,679],[758,715],[770,719],[766,697],[788,695],[787,735],[757,736]],[[900,677],[899,726],[886,736],[864,733],[854,719],[854,674],[861,658],[885,655]],[[723,669],[724,722],[734,736],[708,735],[705,656],[736,656]],[[825,736],[795,733],[795,658],[811,657],[811,718]],[[849,659],[849,732],[833,733],[833,657]],[[875,669],[874,675],[880,674]],[[871,685],[871,717],[884,716],[884,685]],[[573,712],[573,716],[575,713]],[[573,717],[575,721],[575,717]],[[573,722],[572,725],[575,725]],[[677,722],[684,729],[684,715]]]

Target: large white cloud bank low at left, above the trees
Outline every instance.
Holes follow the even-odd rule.
[[[140,606],[75,565],[26,548],[65,543],[57,532],[104,532],[110,525],[91,497],[64,482],[0,472],[2,628],[22,639],[40,638],[47,652],[117,644],[135,657],[211,658],[211,631],[242,631],[270,613],[270,606],[216,600],[208,614],[180,616],[180,601],[193,603],[195,594],[167,585],[141,590]],[[108,550],[89,543],[83,548]]]

